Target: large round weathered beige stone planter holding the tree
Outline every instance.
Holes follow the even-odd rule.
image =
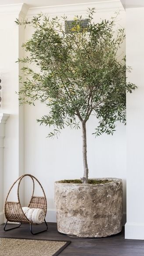
[[[112,182],[96,185],[55,182],[59,232],[98,238],[122,230],[122,180],[105,179]]]

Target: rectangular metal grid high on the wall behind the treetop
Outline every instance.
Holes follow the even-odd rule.
[[[65,33],[66,34],[74,34],[76,32],[86,32],[88,31],[89,21],[88,19],[82,20],[71,20],[65,21]]]

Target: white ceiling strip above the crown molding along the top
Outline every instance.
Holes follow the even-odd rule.
[[[83,4],[96,2],[109,2],[113,0],[0,0],[0,5],[6,4],[22,4],[25,3],[29,7],[42,7],[66,4]],[[115,1],[115,0],[114,0]],[[125,8],[144,7],[144,0],[121,0]]]

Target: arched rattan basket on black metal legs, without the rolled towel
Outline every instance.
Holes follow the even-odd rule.
[[[39,233],[41,233],[43,231],[47,231],[48,227],[47,227],[47,223],[46,223],[45,218],[44,218],[44,222],[45,222],[47,228],[44,229],[43,231],[39,231],[39,232],[33,233],[33,231],[32,231],[32,224],[34,224],[34,225],[40,225],[40,224],[35,224],[32,221],[29,221],[29,219],[25,216],[25,213],[22,210],[21,202],[20,202],[20,199],[19,199],[20,183],[21,183],[22,179],[24,177],[26,177],[26,176],[29,176],[32,179],[32,183],[33,183],[32,197],[30,199],[28,207],[29,208],[40,208],[40,209],[43,209],[43,211],[45,213],[45,216],[46,216],[46,213],[47,213],[47,199],[46,199],[46,195],[44,193],[43,187],[40,184],[40,181],[37,180],[36,177],[32,176],[31,174],[24,174],[21,177],[19,177],[14,182],[14,184],[11,186],[10,190],[8,191],[5,203],[4,203],[4,215],[5,215],[6,219],[7,219],[7,222],[8,221],[10,221],[10,222],[18,222],[19,225],[17,227],[6,229],[6,226],[7,226],[7,222],[6,222],[6,224],[4,226],[4,231],[9,231],[9,230],[18,228],[18,227],[21,226],[22,223],[29,223],[30,224],[30,231],[31,231],[31,233],[32,234],[39,234]],[[43,191],[43,196],[34,196],[35,181],[37,181],[37,183],[40,185],[40,187],[41,187],[41,189]],[[12,188],[14,187],[14,185],[17,182],[18,182],[18,189],[17,189],[18,202],[9,202],[9,201],[7,201],[7,198],[10,195]]]

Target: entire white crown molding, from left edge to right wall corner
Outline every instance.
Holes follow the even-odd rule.
[[[98,1],[83,4],[67,4],[67,5],[55,5],[55,6],[42,6],[31,7],[27,4],[7,4],[0,5],[0,15],[14,14],[20,15],[22,18],[25,16],[33,16],[39,13],[51,15],[63,15],[63,14],[83,14],[86,13],[87,8],[95,7],[98,11],[108,10],[120,10],[124,11],[120,0]]]

